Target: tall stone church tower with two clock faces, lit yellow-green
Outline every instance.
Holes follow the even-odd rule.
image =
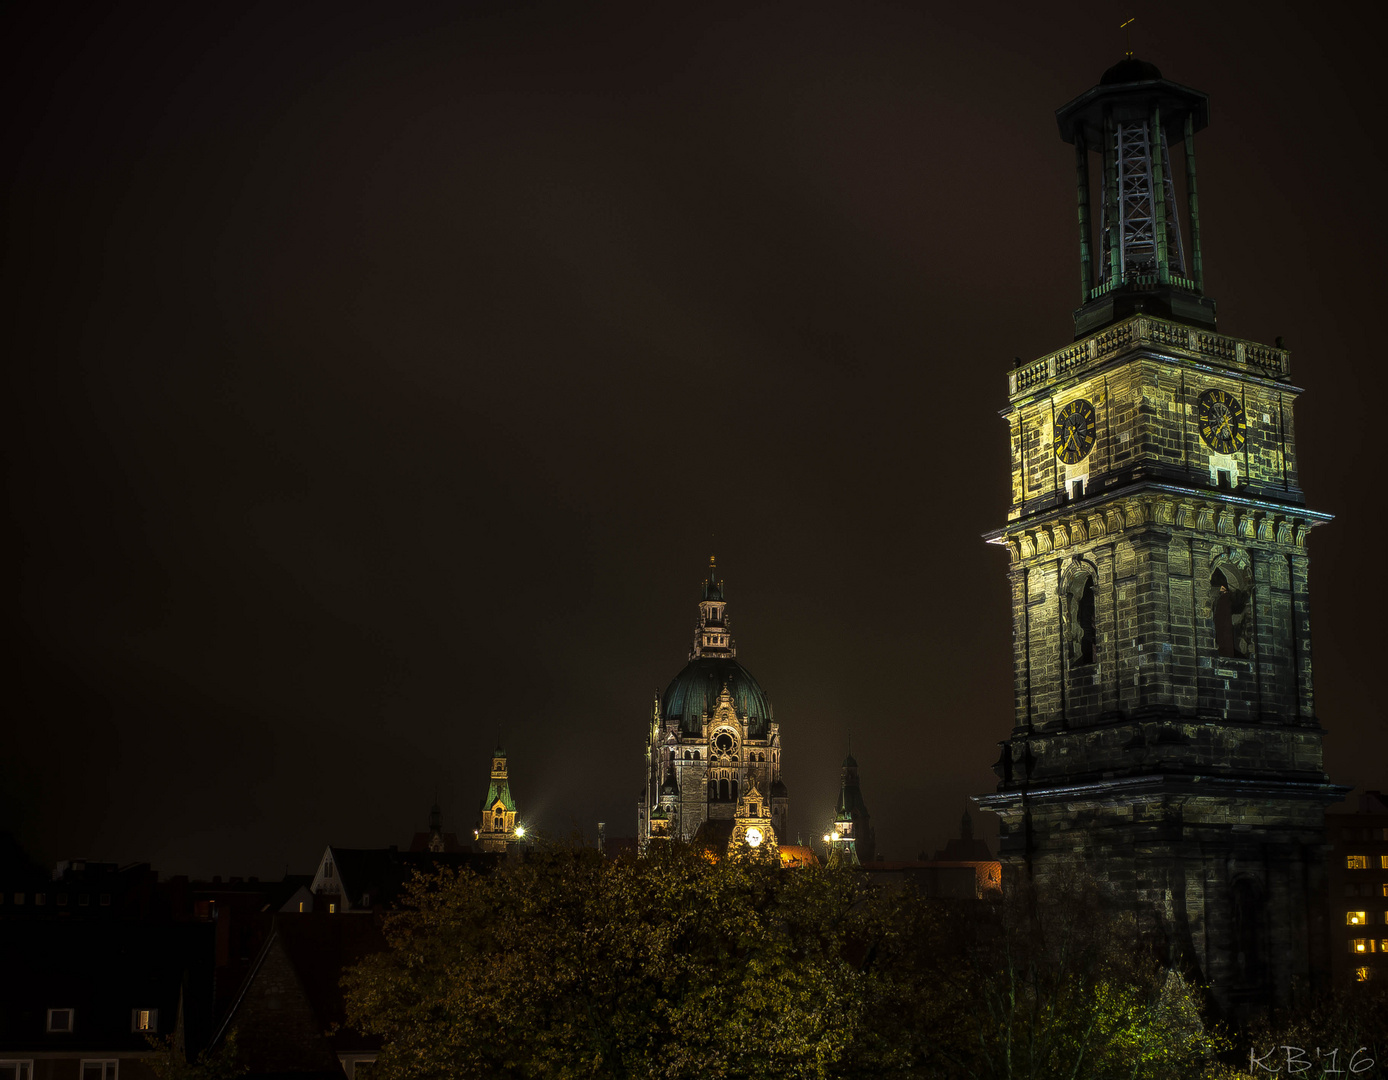
[[[1074,343],[1008,380],[1012,505],[988,539],[1016,719],[977,801],[1009,875],[1083,862],[1237,1018],[1326,965],[1345,788],[1321,769],[1306,541],[1330,516],[1299,486],[1287,350],[1219,333],[1203,294],[1206,96],[1130,57],[1056,117],[1080,307]]]

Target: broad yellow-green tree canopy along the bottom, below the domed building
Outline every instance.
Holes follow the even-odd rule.
[[[662,844],[440,870],[351,970],[373,1076],[1196,1076],[1198,995],[1092,895],[942,904]]]

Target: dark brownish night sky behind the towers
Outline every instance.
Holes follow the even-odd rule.
[[[716,552],[791,832],[851,740],[942,845],[1013,722],[1006,373],[1073,336],[1053,110],[1130,14],[1210,94],[1220,330],[1306,387],[1327,770],[1388,788],[1381,10],[31,4],[0,830],[307,872],[471,836],[500,733],[525,822],[633,834]]]

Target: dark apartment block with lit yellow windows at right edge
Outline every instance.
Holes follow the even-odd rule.
[[[1327,813],[1330,955],[1338,984],[1388,979],[1388,795],[1359,797],[1357,813]]]

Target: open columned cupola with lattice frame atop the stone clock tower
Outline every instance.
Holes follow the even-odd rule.
[[[1060,139],[1074,144],[1076,339],[1142,311],[1214,329],[1214,301],[1205,296],[1195,185],[1195,133],[1209,124],[1209,99],[1130,56],[1055,115]],[[1185,232],[1171,143],[1181,146],[1184,157]],[[1092,185],[1095,162],[1098,183]]]

